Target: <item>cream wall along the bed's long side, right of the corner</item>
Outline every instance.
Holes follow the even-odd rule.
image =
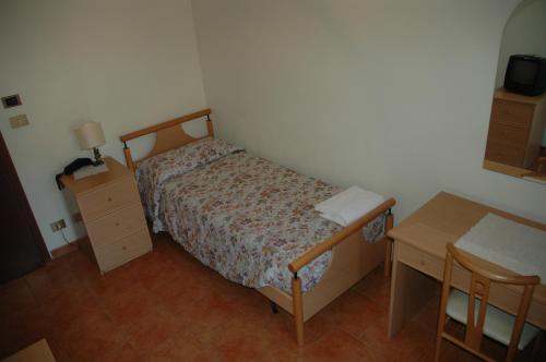
[[[546,186],[482,168],[518,0],[194,0],[221,137],[399,202],[440,190],[546,221]]]

